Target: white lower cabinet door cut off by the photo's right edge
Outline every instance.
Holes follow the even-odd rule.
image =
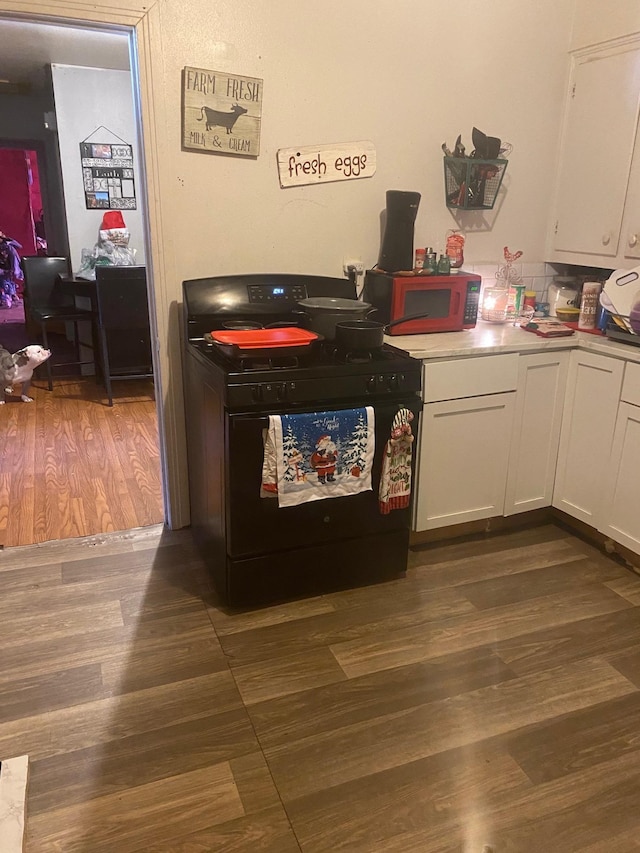
[[[604,492],[599,529],[640,554],[640,406],[620,403]]]

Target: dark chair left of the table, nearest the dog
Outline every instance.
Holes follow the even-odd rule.
[[[74,345],[76,348],[76,360],[56,362],[56,367],[80,366],[93,364],[82,360],[80,355],[80,337],[78,334],[78,323],[83,320],[91,321],[93,311],[86,308],[78,308],[73,296],[62,293],[56,286],[58,276],[69,275],[69,261],[67,258],[44,257],[40,255],[26,255],[22,258],[22,272],[24,275],[24,311],[27,324],[33,321],[40,329],[42,344],[49,349],[49,331],[51,326],[60,326],[64,323],[73,323]],[[53,374],[51,359],[44,363],[47,371],[47,382],[49,391],[53,391]]]

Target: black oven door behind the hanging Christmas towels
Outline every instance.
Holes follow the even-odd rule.
[[[358,405],[367,403],[354,403]],[[385,444],[393,418],[404,406],[414,414],[417,435],[419,398],[374,405],[375,457],[372,490],[280,508],[274,497],[260,497],[264,457],[263,430],[269,419],[258,414],[226,415],[226,541],[232,559],[306,548],[319,543],[409,529],[410,507],[388,515],[380,512],[378,487]],[[318,407],[317,411],[323,408]],[[343,407],[343,408],[351,408]],[[414,442],[415,447],[415,442]],[[415,466],[415,451],[414,451]]]

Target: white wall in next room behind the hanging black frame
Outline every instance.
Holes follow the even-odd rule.
[[[126,41],[126,36],[122,38]],[[90,135],[92,142],[113,143],[124,140],[133,145],[138,206],[136,210],[124,210],[122,214],[131,232],[129,246],[137,252],[136,262],[144,264],[142,187],[131,74],[128,71],[72,65],[52,65],[51,73],[72,269],[79,269],[82,249],[93,249],[105,213],[104,210],[88,210],[85,203],[80,143]],[[94,134],[101,125],[107,130]]]

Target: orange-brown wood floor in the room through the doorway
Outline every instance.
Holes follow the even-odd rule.
[[[17,393],[17,389],[16,389]],[[150,381],[36,379],[32,403],[0,406],[0,545],[30,545],[162,522]]]

